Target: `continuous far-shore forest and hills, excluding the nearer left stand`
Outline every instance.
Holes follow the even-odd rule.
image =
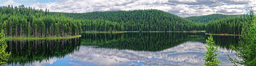
[[[210,34],[241,34],[248,14],[210,14],[181,18],[161,10],[129,10],[87,13],[63,13],[65,16],[81,20],[83,32],[116,31],[202,31]]]

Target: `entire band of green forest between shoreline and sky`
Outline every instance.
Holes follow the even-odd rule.
[[[233,17],[234,16],[234,17]],[[81,32],[202,31],[210,34],[241,34],[250,15],[211,14],[181,18],[161,10],[104,11],[87,13],[49,12],[21,6],[0,6],[0,30],[9,38],[76,36]]]

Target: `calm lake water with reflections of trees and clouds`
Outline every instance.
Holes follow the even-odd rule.
[[[80,38],[6,40],[7,66],[203,66],[209,35],[183,32],[82,33]],[[239,36],[213,36],[222,66],[233,66]]]

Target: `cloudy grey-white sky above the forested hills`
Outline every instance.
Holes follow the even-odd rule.
[[[208,14],[246,14],[256,0],[0,0],[0,6],[46,8],[50,12],[94,12],[116,10],[157,9],[180,17]]]

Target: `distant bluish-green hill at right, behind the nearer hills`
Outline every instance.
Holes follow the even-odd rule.
[[[210,14],[210,15],[204,15],[204,16],[190,16],[186,17],[188,20],[192,20],[193,22],[199,22],[199,23],[208,23],[213,20],[220,20],[228,17],[236,17],[240,15],[224,15],[224,14]]]

